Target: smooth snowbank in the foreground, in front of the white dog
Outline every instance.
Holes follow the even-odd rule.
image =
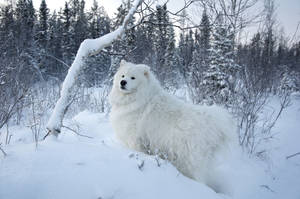
[[[0,198],[221,198],[168,162],[123,148],[104,114],[84,111],[74,120],[93,139],[66,130],[38,148],[17,142],[6,148]]]

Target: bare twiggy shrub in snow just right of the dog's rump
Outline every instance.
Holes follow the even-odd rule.
[[[247,69],[241,71],[240,77],[230,107],[238,120],[239,143],[249,154],[263,157],[264,150],[259,146],[274,138],[272,129],[283,110],[291,104],[291,92],[279,89],[277,96],[272,95],[263,84],[263,78],[254,78]],[[267,106],[272,97],[279,98],[278,110]]]

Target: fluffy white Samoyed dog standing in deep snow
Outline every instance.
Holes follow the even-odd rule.
[[[124,145],[167,159],[216,192],[230,192],[218,171],[235,139],[224,109],[187,104],[164,91],[148,66],[126,61],[114,76],[109,102],[113,130]]]

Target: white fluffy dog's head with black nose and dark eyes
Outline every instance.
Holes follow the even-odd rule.
[[[139,87],[148,81],[149,74],[150,68],[148,66],[122,60],[120,68],[114,76],[114,87],[117,87],[123,94],[137,92]]]

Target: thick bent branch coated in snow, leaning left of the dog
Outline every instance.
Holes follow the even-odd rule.
[[[54,134],[57,136],[58,133],[60,133],[64,115],[70,105],[69,101],[71,100],[71,91],[73,85],[75,84],[76,77],[78,77],[80,70],[82,70],[84,66],[84,58],[99,53],[102,49],[111,45],[115,40],[120,38],[125,32],[129,20],[132,18],[137,7],[142,3],[142,1],[143,0],[134,1],[132,8],[124,18],[123,24],[118,29],[96,39],[86,39],[80,44],[75,60],[63,82],[60,98],[58,99],[48,121],[47,135]]]

